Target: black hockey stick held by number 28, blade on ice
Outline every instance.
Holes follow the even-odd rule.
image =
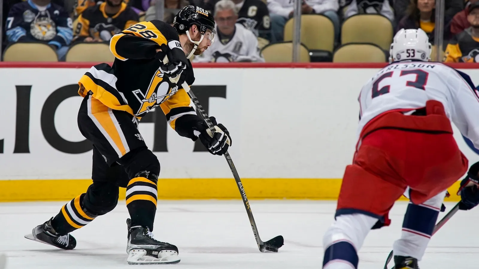
[[[216,133],[215,126],[213,126],[213,123],[211,123],[211,120],[209,119],[208,114],[206,114],[200,102],[198,101],[194,93],[191,91],[190,86],[188,86],[186,82],[183,82],[182,87],[188,93],[191,100],[193,100],[194,106],[196,106],[196,110],[200,112],[201,118],[206,122],[210,131],[213,134]],[[238,171],[236,171],[235,165],[233,164],[233,160],[229,156],[228,151],[225,152],[224,155],[226,160],[228,161],[228,165],[229,165],[229,168],[231,169],[231,173],[233,173],[233,177],[236,180],[239,193],[241,194],[243,198],[242,201],[243,201],[244,207],[246,208],[246,213],[248,213],[248,217],[250,218],[251,228],[253,229],[253,234],[254,234],[254,237],[256,238],[256,243],[258,244],[260,251],[261,252],[267,252],[267,251],[278,252],[278,248],[284,245],[283,236],[278,235],[274,237],[273,239],[268,240],[266,242],[263,242],[261,240],[260,234],[258,233],[258,228],[256,227],[256,223],[254,222],[253,213],[251,212],[250,202],[248,201],[248,198],[246,197],[246,191],[244,190],[243,183],[241,183],[241,179],[239,178]]]

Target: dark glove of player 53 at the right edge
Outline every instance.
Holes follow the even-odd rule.
[[[459,191],[461,193],[460,210],[469,210],[479,204],[479,162],[473,164],[466,178],[462,179]],[[459,194],[459,193],[458,193]]]

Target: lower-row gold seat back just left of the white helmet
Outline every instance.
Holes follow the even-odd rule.
[[[374,44],[346,44],[334,52],[333,63],[384,63],[386,54]]]

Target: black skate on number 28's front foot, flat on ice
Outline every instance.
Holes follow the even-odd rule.
[[[179,263],[178,247],[153,239],[153,234],[148,227],[133,226],[131,220],[128,224],[128,245],[126,253],[129,264],[171,264]]]

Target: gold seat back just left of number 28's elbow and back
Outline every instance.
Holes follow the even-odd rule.
[[[79,43],[70,47],[67,62],[113,62],[110,46],[103,43]]]

